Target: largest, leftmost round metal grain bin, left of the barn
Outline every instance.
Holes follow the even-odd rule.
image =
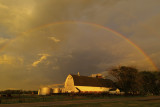
[[[51,95],[53,92],[52,88],[42,87],[38,90],[38,95]]]

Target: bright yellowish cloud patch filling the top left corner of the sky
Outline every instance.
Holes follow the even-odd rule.
[[[34,2],[31,0],[0,0],[0,28],[2,32],[12,37],[30,28],[30,21],[34,17]],[[0,29],[1,30],[1,29]]]

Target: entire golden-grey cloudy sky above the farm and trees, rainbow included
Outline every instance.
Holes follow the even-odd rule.
[[[0,90],[160,70],[159,28],[160,0],[0,0]]]

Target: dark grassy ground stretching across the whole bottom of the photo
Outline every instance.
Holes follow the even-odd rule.
[[[156,96],[68,96],[68,95],[53,95],[53,96],[38,96],[38,95],[13,95],[10,98],[1,98],[1,104],[22,104],[44,102],[43,106],[39,107],[160,107],[160,97]],[[147,100],[145,99],[147,98]],[[148,99],[149,98],[149,99]],[[157,98],[157,97],[156,97]],[[99,102],[98,100],[103,100]],[[94,102],[91,102],[94,100]],[[65,102],[64,102],[65,101]],[[71,102],[68,103],[67,101]],[[74,101],[81,101],[77,104]],[[49,103],[47,103],[49,102]],[[58,104],[53,104],[59,102]],[[73,102],[73,103],[72,103]],[[52,104],[51,104],[52,103]],[[61,105],[64,103],[64,105]],[[17,107],[17,106],[15,106]]]

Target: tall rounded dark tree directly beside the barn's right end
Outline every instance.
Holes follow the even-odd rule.
[[[138,70],[136,68],[119,66],[118,68],[111,69],[109,75],[114,79],[117,88],[126,94],[134,94],[138,91]]]

